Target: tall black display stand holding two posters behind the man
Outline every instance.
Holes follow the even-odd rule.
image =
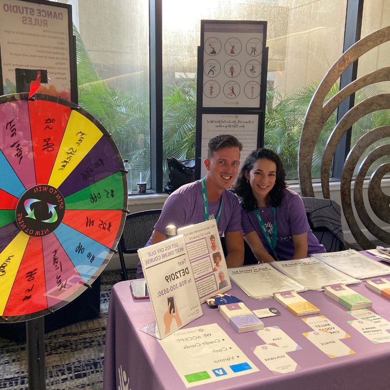
[[[241,163],[263,146],[267,90],[266,21],[201,20],[196,93],[195,179],[206,174],[207,143],[231,134]]]

